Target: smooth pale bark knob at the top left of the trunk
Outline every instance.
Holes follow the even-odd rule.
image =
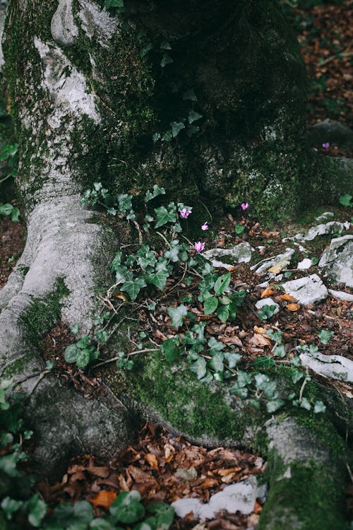
[[[59,0],[50,30],[54,41],[59,46],[70,47],[76,43],[78,27],[73,20],[72,0]]]

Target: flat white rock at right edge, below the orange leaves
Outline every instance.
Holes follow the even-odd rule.
[[[323,355],[319,352],[312,355],[301,353],[300,359],[302,365],[309,366],[318,374],[331,379],[353,382],[353,361],[342,357],[342,355]]]

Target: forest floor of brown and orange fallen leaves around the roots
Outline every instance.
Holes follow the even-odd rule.
[[[353,16],[353,2],[345,1],[340,5],[319,5],[311,8],[295,8],[292,11],[292,21],[299,35],[301,52],[306,61],[309,76],[309,107],[308,125],[330,118],[352,126],[353,122],[353,93],[351,90],[353,28],[349,20]],[[339,146],[330,145],[325,149],[316,146],[328,155],[353,156],[352,152],[342,151]],[[349,191],[349,190],[347,190]],[[326,208],[335,213],[335,220],[347,220],[347,208],[337,205],[336,208]],[[316,215],[325,211],[321,208]],[[249,208],[251,216],[251,208]],[[313,218],[301,219],[301,230],[305,230]],[[263,230],[256,220],[249,220],[242,216],[239,223],[244,226],[244,232],[239,236],[234,230],[235,223],[232,216],[228,216],[219,225],[217,235],[210,247],[224,247],[248,241],[258,250],[258,261],[268,256],[283,252],[284,235],[294,235],[298,225],[280,227],[272,232]],[[310,224],[311,223],[311,224]],[[304,228],[303,228],[304,227]],[[9,218],[0,220],[0,288],[6,283],[16,260],[20,256],[25,242],[25,230],[20,223],[13,223]],[[319,258],[329,244],[328,238],[322,237],[311,247],[311,257]],[[300,252],[296,255],[293,267],[289,271],[290,279],[303,276],[296,269],[297,262],[304,256]],[[301,271],[305,272],[305,271]],[[310,273],[316,272],[316,267]],[[287,278],[289,278],[287,276]],[[235,286],[244,288],[249,295],[246,305],[239,311],[236,322],[232,325],[220,324],[215,318],[206,319],[207,332],[226,344],[236,346],[242,355],[246,355],[249,363],[258,356],[270,354],[273,348],[270,338],[266,336],[268,324],[258,319],[255,303],[263,296],[270,295],[280,305],[280,313],[271,321],[284,331],[284,341],[287,349],[302,344],[318,344],[318,332],[321,329],[333,331],[333,338],[326,346],[327,354],[346,355],[353,359],[349,352],[349,317],[351,307],[349,302],[337,300],[329,295],[318,305],[298,306],[292,300],[282,298],[282,293],[276,285],[259,288],[261,279],[249,270],[249,266],[241,264],[232,270],[232,282]],[[167,299],[168,305],[173,305],[183,296],[190,294],[187,288],[174,290],[174,298]],[[292,307],[291,307],[292,306]],[[153,340],[160,343],[170,332],[170,319],[162,307],[151,315],[141,312],[140,331],[149,330]],[[157,326],[153,324],[157,322]],[[217,321],[217,322],[216,322]],[[152,330],[152,331],[151,331]],[[64,372],[68,384],[74,384],[86,396],[94,395],[101,382],[94,375],[83,375],[83,372],[67,365],[64,361],[64,349],[73,342],[73,336],[65,327],[58,325],[43,337],[42,352],[47,360],[55,360],[57,370]],[[134,337],[131,338],[134,341]],[[331,381],[341,392],[352,396],[349,385]],[[196,476],[189,479],[178,476],[178,469],[194,469]],[[196,447],[164,432],[154,425],[145,425],[141,430],[136,444],[126,447],[117,459],[109,462],[96,461],[92,455],[81,455],[68,466],[61,481],[50,484],[42,481],[39,490],[44,500],[54,507],[62,500],[86,499],[91,502],[95,515],[107,512],[110,504],[121,490],[137,489],[143,500],[163,500],[172,502],[179,497],[197,496],[208,501],[210,495],[225,487],[229,483],[244,481],[251,474],[264,471],[265,462],[258,454],[249,454],[235,449],[216,448],[205,449]],[[349,508],[353,512],[353,485],[348,491]],[[213,521],[207,522],[203,529],[245,530],[255,529],[261,513],[261,500],[258,499],[253,512],[248,515],[222,513]],[[191,529],[196,522],[191,517],[177,519],[174,529]],[[201,526],[198,526],[201,530]]]

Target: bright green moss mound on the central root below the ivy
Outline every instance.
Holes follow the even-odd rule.
[[[140,360],[128,374],[128,391],[164,421],[193,437],[215,440],[244,439],[244,430],[259,418],[251,409],[236,411],[235,401],[226,398],[222,385],[198,382],[186,363],[166,365],[161,353]]]

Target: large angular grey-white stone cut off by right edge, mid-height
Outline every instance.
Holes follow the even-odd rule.
[[[331,281],[353,288],[353,235],[336,237],[325,249],[318,266]]]

